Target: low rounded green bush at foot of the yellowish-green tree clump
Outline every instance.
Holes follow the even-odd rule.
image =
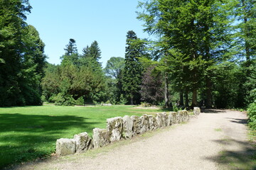
[[[75,106],[75,99],[70,94],[59,93],[54,101],[56,106]]]

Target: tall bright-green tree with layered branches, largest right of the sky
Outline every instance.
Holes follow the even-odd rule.
[[[139,7],[144,30],[160,35],[155,42],[159,70],[171,76],[177,92],[193,92],[192,106],[198,105],[197,91],[207,80],[211,105],[208,67],[230,57],[230,1],[152,0],[140,2]]]

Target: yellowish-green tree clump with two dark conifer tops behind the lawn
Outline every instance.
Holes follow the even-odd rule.
[[[46,100],[64,106],[74,105],[72,98],[77,100],[81,96],[90,102],[107,101],[105,77],[97,62],[100,49],[96,41],[88,48],[89,53],[79,55],[75,40],[70,39],[60,66],[48,64],[41,82]]]

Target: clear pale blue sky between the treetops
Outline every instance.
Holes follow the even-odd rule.
[[[136,18],[137,0],[31,0],[30,4],[33,9],[26,22],[38,30],[52,64],[60,64],[70,38],[76,40],[80,53],[97,40],[105,67],[110,57],[124,57],[128,30],[138,38],[149,37]]]

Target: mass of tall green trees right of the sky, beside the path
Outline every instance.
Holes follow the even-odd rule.
[[[140,2],[145,31],[159,36],[157,65],[183,105],[244,107],[255,100],[255,2]],[[245,60],[244,60],[245,59]],[[199,100],[198,100],[199,99]],[[198,103],[200,101],[200,103]]]

